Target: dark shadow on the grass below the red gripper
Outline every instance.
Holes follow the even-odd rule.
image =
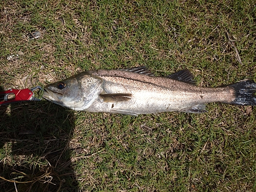
[[[73,112],[49,101],[0,106],[1,190],[78,191],[73,131]]]

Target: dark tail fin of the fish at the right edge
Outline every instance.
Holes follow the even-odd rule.
[[[237,105],[256,105],[256,82],[246,80],[230,84],[234,89],[236,98],[231,102]]]

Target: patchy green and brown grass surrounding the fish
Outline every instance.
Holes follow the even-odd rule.
[[[89,69],[189,69],[199,86],[256,80],[254,1],[2,1],[0,86]],[[29,40],[27,34],[40,31]],[[236,58],[226,33],[234,41]],[[19,59],[7,60],[19,54]],[[255,108],[131,117],[48,101],[0,107],[4,191],[255,191]],[[246,111],[247,110],[247,111]],[[249,110],[249,111],[248,111]],[[246,113],[247,112],[247,113]],[[13,183],[13,181],[19,183]]]

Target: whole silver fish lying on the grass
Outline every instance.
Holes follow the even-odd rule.
[[[189,70],[155,76],[146,67],[91,70],[54,82],[42,97],[75,111],[138,116],[160,112],[205,113],[206,103],[256,105],[256,83],[243,80],[199,87]]]

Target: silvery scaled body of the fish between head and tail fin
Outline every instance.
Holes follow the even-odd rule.
[[[217,101],[228,102],[230,95],[233,95],[230,89],[200,88],[174,79],[146,75],[141,77],[141,74],[130,74],[129,72],[122,73],[123,77],[120,77],[118,72],[117,70],[99,70],[91,73],[104,80],[102,89],[105,94],[132,93],[131,100],[106,103],[99,98],[95,105],[87,109],[88,112],[99,110],[109,113],[127,111],[134,114],[165,111],[183,112],[198,104]],[[114,104],[113,108],[112,104]]]

